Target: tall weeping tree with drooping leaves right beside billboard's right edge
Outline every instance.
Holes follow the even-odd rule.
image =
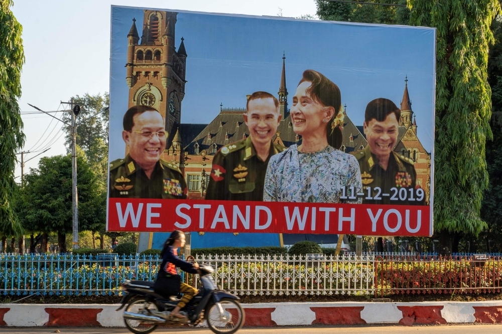
[[[496,0],[409,0],[409,6],[411,24],[437,29],[434,225],[442,252],[449,252],[454,233],[486,228],[480,209],[491,137],[487,62],[500,6]]]

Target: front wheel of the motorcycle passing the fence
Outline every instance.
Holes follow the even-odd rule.
[[[209,329],[216,334],[232,334],[242,327],[246,315],[240,303],[234,299],[223,298],[219,302],[225,312],[230,313],[229,320],[222,319],[218,305],[211,303],[205,311],[205,318]]]

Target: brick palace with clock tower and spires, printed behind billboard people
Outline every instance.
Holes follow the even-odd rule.
[[[136,20],[128,34],[128,61],[126,81],[129,86],[129,108],[148,105],[159,110],[166,120],[169,133],[162,158],[179,166],[188,185],[190,199],[204,198],[209,182],[212,159],[223,145],[244,139],[249,135],[242,113],[245,112],[244,97],[240,108],[223,108],[209,124],[182,124],[181,102],[185,96],[185,70],[188,57],[183,38],[176,51],[175,27],[177,13],[144,11],[141,41]],[[279,82],[278,100],[282,115],[274,141],[286,147],[301,141],[293,132],[288,109],[286,67],[283,56],[282,75]],[[408,94],[408,79],[405,80],[398,144],[394,150],[415,162],[417,184],[429,199],[431,155],[417,137],[417,123]],[[341,125],[343,144],[341,150],[350,153],[367,144],[361,126],[356,126],[346,115]]]

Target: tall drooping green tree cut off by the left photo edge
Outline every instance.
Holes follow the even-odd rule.
[[[16,152],[25,135],[17,99],[21,96],[21,68],[25,62],[22,27],[10,10],[11,0],[0,0],[0,234],[2,239],[22,233],[12,208]]]

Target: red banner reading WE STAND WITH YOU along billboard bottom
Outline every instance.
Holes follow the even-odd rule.
[[[429,236],[429,206],[108,199],[108,231]]]

